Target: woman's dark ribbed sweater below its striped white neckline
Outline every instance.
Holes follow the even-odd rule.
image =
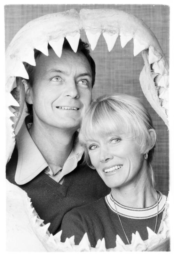
[[[163,211],[158,214],[156,233],[159,229]],[[120,215],[122,225],[129,242],[132,233],[139,232],[142,240],[148,239],[147,226],[153,231],[156,224],[156,216],[148,219],[133,219]],[[91,204],[78,207],[66,213],[63,218],[61,229],[61,241],[66,237],[75,236],[75,244],[79,244],[85,233],[88,235],[90,245],[96,246],[98,239],[104,237],[106,249],[116,247],[116,235],[118,234],[125,244],[128,244],[123,233],[117,213],[113,212],[107,205],[105,198],[101,198]]]

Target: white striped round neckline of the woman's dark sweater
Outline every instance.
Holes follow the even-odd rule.
[[[161,192],[159,192],[159,199],[158,199],[158,214],[160,212],[162,212],[165,208],[165,203],[167,200],[167,197],[163,194],[161,194]],[[148,219],[148,218],[152,218],[154,216],[157,215],[157,202],[155,204],[153,204],[150,207],[146,207],[146,208],[133,208],[133,207],[128,207],[128,206],[124,206],[120,203],[118,203],[116,200],[113,199],[111,193],[107,196],[105,196],[105,201],[106,204],[109,206],[109,208],[115,212],[115,205],[117,207],[117,211],[118,214],[127,218],[131,218],[131,219]]]

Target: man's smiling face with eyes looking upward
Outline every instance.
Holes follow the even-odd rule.
[[[34,120],[77,130],[92,100],[92,70],[87,58],[68,50],[61,58],[53,50],[48,57],[41,54],[30,90]]]

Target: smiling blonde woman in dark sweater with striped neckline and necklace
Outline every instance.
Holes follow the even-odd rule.
[[[79,244],[87,232],[92,247],[104,237],[108,249],[116,246],[116,235],[130,244],[136,231],[142,240],[148,239],[147,227],[157,233],[166,196],[155,190],[151,161],[156,132],[140,101],[128,95],[98,98],[82,121],[79,140],[86,162],[111,193],[67,213],[62,240],[75,235]]]

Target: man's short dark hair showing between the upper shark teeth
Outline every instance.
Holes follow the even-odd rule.
[[[82,52],[87,60],[89,61],[89,64],[90,64],[90,67],[91,67],[91,70],[92,70],[92,87],[95,83],[95,62],[93,60],[93,58],[90,56],[90,51],[88,49],[89,45],[85,42],[83,42],[81,39],[79,40],[79,44],[78,44],[78,48],[77,48],[77,51],[78,52]],[[48,44],[48,50],[49,49],[52,49],[52,47]],[[69,51],[73,51],[68,40],[66,38],[64,38],[64,43],[63,43],[63,47],[62,47],[62,50],[69,50]],[[34,49],[34,59],[37,59],[39,58],[39,56],[42,54],[42,52],[40,52],[39,50],[37,49]],[[32,87],[33,86],[33,83],[34,83],[34,66],[24,62],[24,66],[25,66],[25,69],[29,75],[29,79],[25,79],[29,82],[29,85]],[[32,109],[32,104],[28,104],[26,102],[26,105],[27,105],[27,109],[28,109],[28,113],[29,115],[31,116],[32,118],[32,115],[33,115],[33,109]]]

